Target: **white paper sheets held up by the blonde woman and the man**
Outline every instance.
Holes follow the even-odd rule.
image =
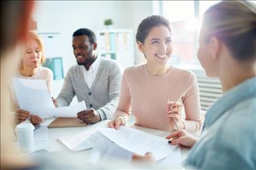
[[[45,80],[12,78],[12,86],[20,109],[25,109],[41,118],[52,116],[75,118],[76,113],[86,109],[85,101],[55,108]]]

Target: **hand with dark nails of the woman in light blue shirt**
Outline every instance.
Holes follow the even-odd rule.
[[[171,139],[172,145],[186,146],[192,148],[192,146],[197,142],[197,137],[191,135],[185,130],[175,131],[171,135],[166,137]]]

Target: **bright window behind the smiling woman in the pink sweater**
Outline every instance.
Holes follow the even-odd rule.
[[[161,1],[162,16],[173,27],[171,64],[199,65],[197,60],[200,20],[208,7],[219,1]]]

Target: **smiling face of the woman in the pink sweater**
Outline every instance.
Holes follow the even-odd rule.
[[[139,42],[139,50],[145,54],[147,63],[166,65],[173,51],[171,32],[164,25],[153,27],[144,44]]]

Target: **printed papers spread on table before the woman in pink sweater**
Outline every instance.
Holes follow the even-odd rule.
[[[141,155],[152,152],[160,167],[178,169],[182,162],[180,148],[171,146],[167,139],[126,126],[119,130],[100,127],[98,131],[85,131],[74,137],[59,137],[59,141],[74,151],[93,148],[87,159],[91,165],[104,165],[116,160],[129,163],[134,152]]]

